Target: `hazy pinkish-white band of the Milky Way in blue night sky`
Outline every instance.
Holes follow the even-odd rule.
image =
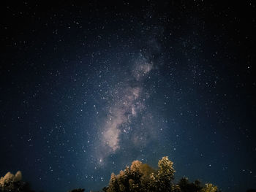
[[[144,82],[150,79],[154,64],[142,54],[132,60],[131,68],[124,77],[124,81],[118,82],[110,90],[112,101],[105,107],[106,118],[102,119],[102,128],[99,129],[98,147],[100,148],[99,162],[116,150],[124,150],[129,147],[142,147],[157,138],[156,131],[151,121],[154,118],[147,109],[146,100],[150,97],[150,91],[143,88]]]

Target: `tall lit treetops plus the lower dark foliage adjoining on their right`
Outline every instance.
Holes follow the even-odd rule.
[[[173,162],[163,157],[158,162],[158,169],[154,170],[148,164],[133,161],[119,174],[111,174],[106,192],[217,192],[217,186],[206,183],[201,186],[199,180],[190,183],[187,177],[181,178],[177,184],[173,183],[175,170]]]

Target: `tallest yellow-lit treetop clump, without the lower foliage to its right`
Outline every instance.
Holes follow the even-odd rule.
[[[111,174],[110,183],[104,191],[171,191],[171,181],[174,179],[173,162],[167,157],[159,161],[159,169],[155,171],[147,164],[133,161],[118,175]]]

